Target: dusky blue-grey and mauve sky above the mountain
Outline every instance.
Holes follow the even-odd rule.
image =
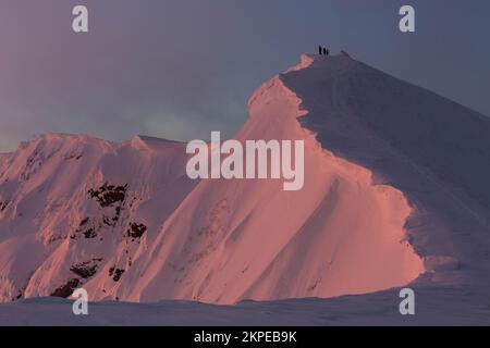
[[[72,32],[72,9],[89,33]],[[397,29],[402,4],[416,33]],[[0,0],[0,151],[35,134],[231,136],[324,45],[490,115],[488,0]]]

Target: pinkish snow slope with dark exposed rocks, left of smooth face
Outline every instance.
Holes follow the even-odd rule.
[[[195,185],[182,171],[183,145],[150,138],[118,145],[47,135],[8,161],[0,172],[3,301],[66,297],[99,274],[111,294]]]

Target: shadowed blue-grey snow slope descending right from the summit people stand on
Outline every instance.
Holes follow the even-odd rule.
[[[302,125],[408,198],[425,279],[487,288],[490,119],[346,54],[305,55],[305,66],[281,75],[308,111]]]

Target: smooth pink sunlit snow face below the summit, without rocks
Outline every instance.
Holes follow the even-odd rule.
[[[278,76],[252,97],[236,139],[304,139],[305,186],[282,181],[203,181],[135,263],[121,298],[232,303],[360,294],[422,272],[405,240],[403,195],[321,149],[297,122],[301,100]],[[191,217],[192,216],[192,217]],[[124,279],[124,281],[126,281]]]

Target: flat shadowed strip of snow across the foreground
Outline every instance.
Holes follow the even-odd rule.
[[[233,306],[167,300],[94,302],[73,315],[72,301],[36,298],[0,304],[2,325],[490,325],[490,300],[458,287],[417,289],[415,315],[401,315],[399,291],[333,299],[243,301]]]

